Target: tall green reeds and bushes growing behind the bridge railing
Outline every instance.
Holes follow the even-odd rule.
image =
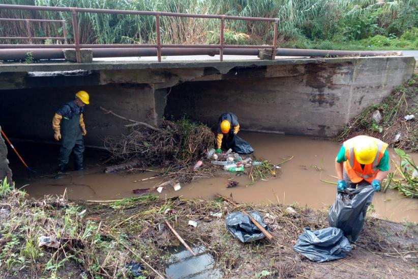
[[[320,49],[416,49],[418,0],[5,0],[4,4],[165,11],[279,18],[279,47]],[[1,17],[64,19],[71,14],[2,10]],[[155,43],[155,18],[80,13],[82,43]],[[163,43],[219,43],[219,20],[161,17]],[[272,23],[227,20],[226,44],[271,44]],[[0,35],[26,36],[25,23],[3,24]],[[33,24],[38,37],[61,36],[59,24]],[[17,43],[17,40],[8,41]],[[20,41],[21,42],[21,41]],[[43,43],[53,43],[44,41]]]

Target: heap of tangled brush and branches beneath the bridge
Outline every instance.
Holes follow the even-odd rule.
[[[116,163],[186,166],[199,160],[214,143],[215,135],[209,127],[181,119],[165,120],[158,129],[135,126],[129,135],[107,137],[105,148]]]

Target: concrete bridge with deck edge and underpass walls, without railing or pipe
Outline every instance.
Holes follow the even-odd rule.
[[[329,137],[379,103],[415,67],[413,57],[292,58],[245,61],[48,62],[0,64],[0,125],[14,138],[53,142],[51,119],[78,90],[86,145],[128,132],[100,106],[151,125],[186,115],[215,126],[233,111],[242,130]],[[0,170],[1,171],[1,170]]]

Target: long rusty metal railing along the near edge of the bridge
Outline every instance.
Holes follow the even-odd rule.
[[[151,11],[128,11],[128,10],[107,10],[107,9],[86,9],[86,8],[73,8],[73,7],[44,7],[44,6],[23,6],[23,5],[0,5],[1,9],[9,10],[32,10],[32,11],[52,11],[52,12],[69,12],[72,16],[72,27],[74,34],[74,44],[61,44],[61,45],[36,45],[36,44],[3,44],[0,48],[74,48],[76,51],[77,62],[81,62],[80,49],[81,48],[156,48],[158,62],[161,62],[161,49],[162,48],[219,48],[219,59],[223,61],[223,54],[225,48],[268,48],[273,50],[272,58],[275,58],[277,49],[277,29],[279,24],[278,18],[265,18],[265,17],[244,17],[244,16],[228,16],[228,15],[202,15],[202,14],[185,14],[185,13],[171,13],[171,12],[151,12]],[[156,42],[157,44],[80,44],[80,37],[78,32],[78,13],[105,13],[105,14],[126,14],[126,15],[148,15],[154,16],[156,22]],[[212,18],[219,19],[220,24],[220,40],[219,44],[198,44],[198,45],[185,45],[185,44],[163,44],[161,43],[160,34],[160,17],[190,17],[190,18]],[[25,19],[21,19],[25,20]],[[273,43],[272,45],[226,45],[224,43],[224,26],[225,20],[254,20],[254,21],[266,21],[274,22]],[[29,39],[21,37],[21,39]],[[65,37],[67,37],[65,35]],[[7,37],[10,38],[10,37]],[[34,38],[32,38],[34,39]],[[40,39],[38,37],[37,39]]]

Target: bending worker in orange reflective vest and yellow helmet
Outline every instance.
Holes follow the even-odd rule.
[[[372,185],[375,191],[380,190],[381,181],[389,173],[386,148],[386,143],[366,135],[345,141],[335,161],[337,190],[344,191],[347,185],[350,188]]]

